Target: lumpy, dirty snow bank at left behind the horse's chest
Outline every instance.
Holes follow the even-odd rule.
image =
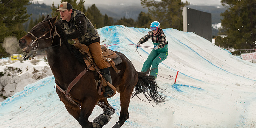
[[[0,95],[10,97],[22,91],[28,84],[53,75],[47,63],[44,61],[44,56],[26,61],[0,59],[0,72],[4,74],[0,77]],[[0,102],[4,101],[3,97],[0,97]]]

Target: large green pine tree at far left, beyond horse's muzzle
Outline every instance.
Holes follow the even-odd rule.
[[[2,44],[6,37],[21,38],[26,34],[22,23],[28,21],[30,15],[26,14],[29,0],[1,0],[0,2],[0,57],[7,57]],[[17,43],[18,46],[18,43]]]

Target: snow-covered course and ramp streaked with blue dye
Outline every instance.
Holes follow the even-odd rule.
[[[122,25],[98,29],[101,44],[106,45],[137,44],[148,31]],[[241,60],[192,32],[169,28],[164,29],[164,33],[169,42],[169,56],[159,64],[158,73],[164,77],[175,77],[177,71],[179,74],[176,84],[174,79],[159,76],[156,82],[159,87],[166,88],[163,94],[170,96],[170,99],[153,107],[134,97],[129,106],[130,118],[122,128],[255,128],[256,64]],[[142,45],[153,46],[151,41]],[[141,70],[143,58],[146,59],[151,51],[138,48],[142,58],[134,45],[113,45],[108,48],[124,53],[137,71]],[[42,63],[40,61],[38,65]],[[24,61],[13,63],[12,66],[21,65],[30,67],[32,64]],[[21,70],[22,73],[17,76],[27,72],[26,68]],[[33,76],[31,72],[29,74],[29,78],[19,79],[23,84],[18,86],[25,86],[24,90],[0,103],[1,128],[80,128],[58,98],[54,76],[35,82],[29,80]],[[15,83],[20,83],[19,80]],[[147,101],[143,95],[138,96]],[[112,128],[120,112],[118,93],[108,101],[116,113],[104,128]],[[102,112],[96,106],[89,120],[92,121]]]

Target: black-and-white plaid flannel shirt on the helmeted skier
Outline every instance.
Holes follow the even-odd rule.
[[[163,30],[160,30],[156,36],[153,35],[152,31],[148,32],[147,35],[140,39],[139,43],[143,44],[149,39],[151,39],[153,43],[158,43],[159,48],[163,48],[166,44],[168,44]]]

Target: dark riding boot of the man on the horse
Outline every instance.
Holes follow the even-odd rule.
[[[110,84],[112,84],[112,79],[111,79],[109,68],[100,69],[100,72],[102,72],[102,75],[105,78],[105,80],[107,82],[109,82]],[[113,93],[114,93],[114,91],[109,86],[105,87],[104,97],[109,97],[109,96],[113,95]]]

